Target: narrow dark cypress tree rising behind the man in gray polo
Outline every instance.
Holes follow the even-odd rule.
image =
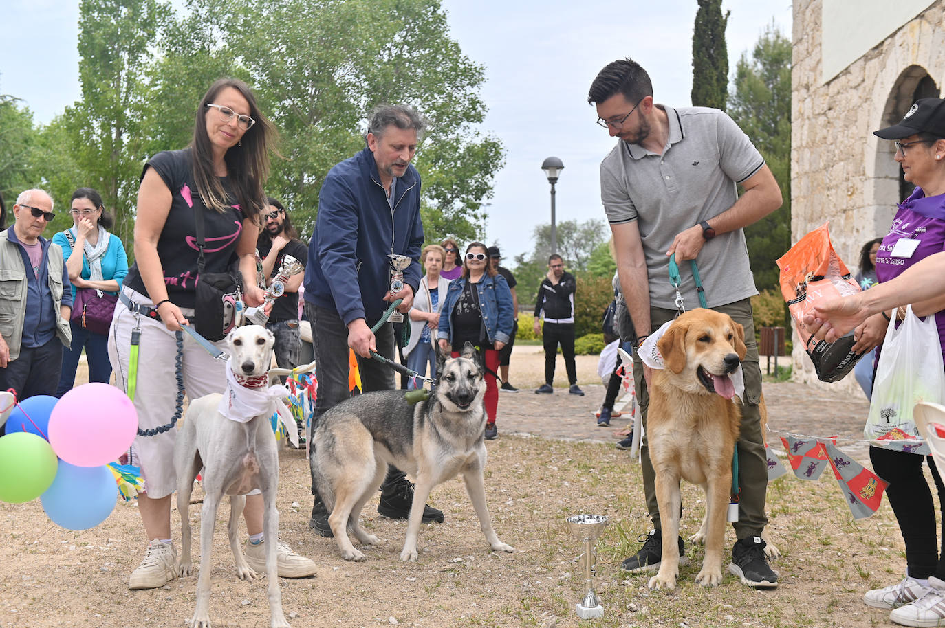
[[[693,107],[725,110],[729,95],[729,50],[725,27],[731,11],[722,15],[722,0],[697,0],[693,30]]]

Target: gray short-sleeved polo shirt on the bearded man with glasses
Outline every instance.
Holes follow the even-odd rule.
[[[757,173],[765,160],[724,111],[671,109],[662,156],[618,141],[600,164],[600,194],[611,225],[637,221],[646,256],[650,303],[676,307],[666,251],[677,234],[725,212],[738,199],[736,183]],[[709,307],[757,295],[742,229],[705,243],[696,265]],[[686,308],[698,307],[688,262],[679,264]]]

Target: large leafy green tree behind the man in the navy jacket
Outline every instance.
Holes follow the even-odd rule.
[[[431,122],[415,160],[431,241],[482,231],[504,151],[474,128],[486,112],[484,69],[449,36],[438,0],[190,0],[188,11],[168,29],[154,90],[191,103],[199,93],[185,84],[247,80],[282,134],[268,191],[303,233],[328,171],[364,147],[364,120],[383,103],[411,105]]]

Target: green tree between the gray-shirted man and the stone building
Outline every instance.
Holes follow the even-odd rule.
[[[759,290],[778,286],[775,263],[791,246],[791,41],[772,22],[749,58],[739,59],[729,113],[765,157],[781,186],[781,209],[745,229]]]

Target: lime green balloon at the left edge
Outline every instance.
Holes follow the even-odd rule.
[[[16,432],[0,437],[0,501],[23,503],[53,484],[59,460],[42,436]]]

